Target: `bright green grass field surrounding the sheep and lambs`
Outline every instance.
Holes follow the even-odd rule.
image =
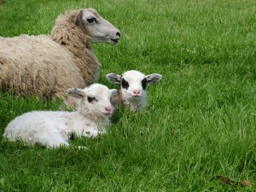
[[[108,134],[78,148],[9,143],[5,126],[61,102],[0,93],[0,191],[256,191],[255,0],[4,0],[0,36],[49,34],[68,9],[92,7],[121,32],[94,44],[105,75],[160,73],[148,108],[113,115]],[[216,176],[249,180],[220,183]]]

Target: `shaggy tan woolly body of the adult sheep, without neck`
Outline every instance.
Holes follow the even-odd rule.
[[[63,98],[63,90],[83,87],[84,79],[61,44],[46,35],[21,35],[0,38],[0,83],[3,90],[14,90],[15,95]]]

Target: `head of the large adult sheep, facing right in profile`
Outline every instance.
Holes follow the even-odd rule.
[[[92,43],[117,44],[121,36],[119,30],[98,15],[95,9],[80,10],[76,24],[90,36]]]

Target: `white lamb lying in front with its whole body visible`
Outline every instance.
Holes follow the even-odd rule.
[[[10,141],[21,139],[31,145],[40,143],[47,148],[69,146],[67,141],[73,134],[96,137],[106,132],[113,113],[110,98],[116,91],[109,90],[103,84],[91,84],[84,90],[69,89],[67,92],[70,96],[80,99],[77,111],[24,113],[7,125],[3,137]]]

